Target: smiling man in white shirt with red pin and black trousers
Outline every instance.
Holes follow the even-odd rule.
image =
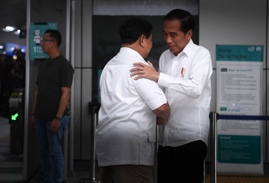
[[[165,91],[171,115],[159,126],[158,182],[202,182],[207,153],[212,61],[206,48],[191,40],[193,16],[182,9],[164,18],[169,50],[159,60],[159,72],[150,62],[131,69],[136,79],[152,79]],[[163,119],[157,117],[157,121]]]

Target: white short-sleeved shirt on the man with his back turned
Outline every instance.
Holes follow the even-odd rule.
[[[147,64],[138,52],[123,47],[102,72],[96,128],[99,166],[154,165],[156,115],[152,110],[167,101],[155,81],[130,76],[135,62]]]

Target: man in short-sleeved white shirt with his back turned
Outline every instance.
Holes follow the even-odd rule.
[[[134,80],[129,69],[135,67],[134,60],[147,64],[151,30],[151,24],[141,18],[123,22],[120,52],[105,65],[100,78],[96,153],[102,183],[150,182],[156,115],[167,119],[170,107],[155,81]]]

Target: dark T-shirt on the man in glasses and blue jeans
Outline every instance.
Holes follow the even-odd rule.
[[[52,121],[59,109],[61,87],[71,88],[74,69],[62,55],[41,63],[36,84],[38,95],[34,116],[41,121]],[[65,109],[63,116],[67,115]]]

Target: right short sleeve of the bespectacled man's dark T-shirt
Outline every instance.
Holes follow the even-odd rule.
[[[72,65],[67,61],[67,63],[63,64],[63,66],[61,67],[60,72],[61,87],[71,88],[74,73]]]

